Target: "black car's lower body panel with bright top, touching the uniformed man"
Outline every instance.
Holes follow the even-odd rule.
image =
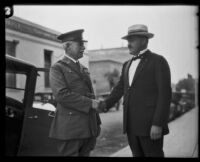
[[[50,104],[35,103],[26,115],[23,144],[20,155],[57,156],[56,141],[49,138],[49,129],[55,109]]]

